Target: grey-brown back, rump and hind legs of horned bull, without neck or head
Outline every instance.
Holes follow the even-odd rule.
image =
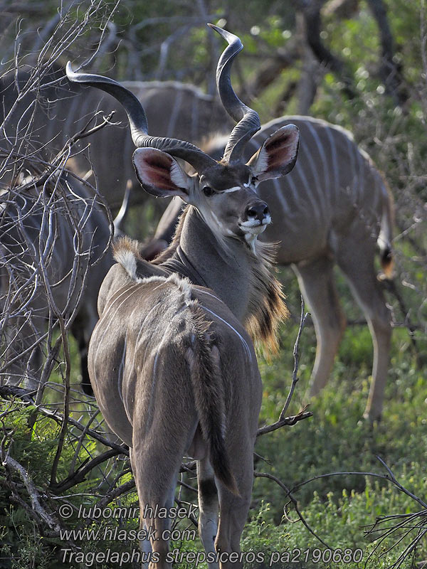
[[[181,459],[191,456],[198,461],[206,553],[215,553],[217,531],[216,551],[239,551],[262,395],[251,339],[209,289],[174,274],[132,278],[132,255],[125,240],[116,245],[122,265],[112,267],[100,290],[89,351],[97,403],[131,447],[140,508],[173,505]],[[152,542],[155,566],[169,567],[163,532],[170,520],[146,519],[144,526],[159,538]]]

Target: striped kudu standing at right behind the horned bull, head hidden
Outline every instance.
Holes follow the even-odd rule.
[[[381,265],[391,277],[393,204],[383,177],[352,135],[311,117],[282,117],[268,124],[248,144],[253,149],[285,124],[300,129],[297,165],[280,180],[260,186],[259,195],[275,212],[275,223],[261,236],[278,241],[277,260],[292,265],[315,324],[317,351],[310,394],[325,386],[346,326],[333,268],[344,272],[367,318],[374,344],[371,389],[365,410],[370,420],[381,416],[389,364],[391,317],[374,260],[379,246]],[[226,139],[211,140],[206,149],[222,156]],[[157,226],[155,243],[169,242],[181,213],[175,198]]]

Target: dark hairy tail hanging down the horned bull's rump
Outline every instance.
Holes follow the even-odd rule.
[[[189,306],[196,339],[187,351],[197,415],[215,475],[233,494],[239,495],[224,441],[226,402],[216,339],[209,334],[209,321],[197,303]]]

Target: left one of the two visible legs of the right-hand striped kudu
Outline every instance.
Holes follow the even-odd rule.
[[[325,387],[346,326],[334,282],[333,267],[333,260],[327,257],[293,267],[315,324],[317,348],[310,379],[310,397]]]

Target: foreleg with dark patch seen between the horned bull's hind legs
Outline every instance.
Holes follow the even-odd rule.
[[[218,490],[214,469],[208,458],[197,462],[199,486],[199,536],[206,553],[215,553],[215,538],[218,531]],[[218,569],[218,563],[208,563],[209,569]]]

